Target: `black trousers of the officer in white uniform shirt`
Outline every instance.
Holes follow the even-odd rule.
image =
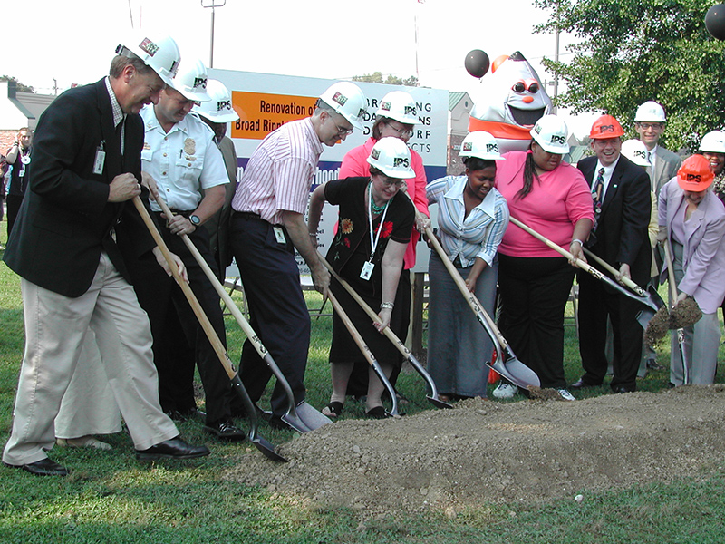
[[[191,290],[222,343],[227,345],[217,292],[181,237],[171,234],[166,221],[160,219],[160,214],[157,216],[164,241],[169,250],[184,262]],[[189,238],[217,274],[217,264],[209,251],[207,229],[203,226],[197,228]],[[193,382],[194,368],[198,364],[206,398],[207,422],[215,423],[231,417],[236,397],[233,396],[229,377],[207,335],[198,325],[198,319],[181,288],[166,275],[155,259],[132,263],[129,269],[140,306],[149,315],[163,410],[185,412],[196,407]]]

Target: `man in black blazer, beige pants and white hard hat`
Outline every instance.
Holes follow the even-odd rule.
[[[124,266],[155,256],[166,267],[129,200],[141,195],[138,113],[170,83],[179,48],[171,38],[142,37],[118,51],[109,77],[63,92],[43,112],[5,250],[22,277],[25,354],[3,461],[38,475],[68,473],[45,451],[89,327],[137,458],[208,454],[180,440],[161,411],[149,321]]]

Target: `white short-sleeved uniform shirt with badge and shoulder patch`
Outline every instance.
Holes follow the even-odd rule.
[[[214,143],[214,131],[195,114],[189,113],[165,132],[153,105],[141,110],[144,143],[141,168],[159,187],[170,209],[191,211],[201,201],[199,189],[229,182],[221,151]],[[160,211],[156,202],[151,209]]]

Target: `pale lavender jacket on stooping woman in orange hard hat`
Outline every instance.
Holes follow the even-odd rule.
[[[684,277],[677,287],[694,297],[705,314],[714,314],[725,297],[725,207],[712,190],[685,221],[684,191],[676,178],[660,189],[659,222],[667,227],[668,243],[672,223],[680,222],[687,239],[682,244]],[[667,265],[662,268],[662,281],[667,277]]]

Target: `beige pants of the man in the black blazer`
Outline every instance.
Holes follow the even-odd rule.
[[[108,256],[102,254],[91,287],[78,298],[26,280],[22,289],[25,354],[3,461],[14,465],[41,461],[44,451],[53,448],[53,421],[89,327],[135,448],[145,450],[179,434],[160,408],[149,319],[133,287]]]

